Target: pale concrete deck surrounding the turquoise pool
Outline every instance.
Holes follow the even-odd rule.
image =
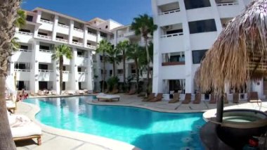
[[[216,108],[216,104],[209,104],[209,101],[202,101],[200,104],[181,104],[181,101],[176,104],[169,104],[168,101],[158,101],[158,102],[143,102],[141,97],[137,95],[125,95],[119,94],[121,96],[120,101],[87,101],[88,104],[98,104],[98,105],[117,105],[117,106],[136,106],[140,108],[148,108],[152,111],[161,111],[168,113],[195,113],[204,112],[210,109]],[[259,110],[258,104],[247,103],[247,101],[240,101],[239,104],[233,104],[229,101],[229,104],[225,104],[227,108],[254,108]],[[262,102],[261,111],[267,111],[267,101]],[[94,135],[83,134],[79,132],[72,132],[68,130],[60,130],[55,127],[50,127],[39,123],[34,116],[39,112],[39,108],[32,104],[26,104],[23,102],[18,102],[18,110],[15,113],[27,115],[31,120],[33,120],[42,129],[42,144],[37,145],[36,139],[25,140],[21,142],[16,142],[17,149],[138,149],[131,144],[126,144],[124,142],[119,142],[117,140],[108,139],[105,137],[98,137]]]

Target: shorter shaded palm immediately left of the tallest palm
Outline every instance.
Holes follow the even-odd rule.
[[[127,59],[133,59],[136,65],[136,91],[139,93],[139,57],[142,55],[143,49],[138,44],[130,44],[126,51]]]

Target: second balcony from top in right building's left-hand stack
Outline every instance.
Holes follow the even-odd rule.
[[[184,51],[182,24],[163,26],[160,29],[160,47],[162,53]]]

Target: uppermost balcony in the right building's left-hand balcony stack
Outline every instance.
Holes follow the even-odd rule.
[[[179,16],[179,13],[181,12],[178,2],[158,6],[159,26],[182,23],[182,17]]]

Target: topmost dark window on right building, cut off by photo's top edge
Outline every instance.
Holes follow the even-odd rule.
[[[187,10],[211,6],[209,0],[184,0],[184,1],[185,1],[185,9]]]

